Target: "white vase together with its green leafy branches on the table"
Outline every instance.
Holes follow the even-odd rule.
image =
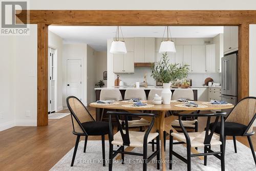
[[[152,63],[151,76],[158,81],[163,82],[162,99],[163,104],[169,104],[172,92],[170,91],[170,83],[174,83],[177,79],[187,77],[188,65],[179,63],[169,63],[167,53],[162,54],[160,61]]]

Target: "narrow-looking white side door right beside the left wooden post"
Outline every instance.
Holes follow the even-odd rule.
[[[48,48],[48,112],[56,111],[55,87],[56,87],[56,50]]]

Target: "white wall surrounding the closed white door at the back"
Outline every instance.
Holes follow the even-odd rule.
[[[87,104],[87,44],[63,44],[63,84],[62,84],[62,105],[67,107],[67,78],[66,78],[66,60],[81,59],[82,60],[82,102]]]

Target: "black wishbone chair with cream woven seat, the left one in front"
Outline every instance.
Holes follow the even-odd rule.
[[[141,114],[134,114],[128,112],[111,112],[108,111],[109,114],[109,142],[110,142],[110,161],[109,161],[109,171],[112,171],[113,166],[113,159],[117,154],[121,154],[122,157],[122,164],[124,164],[124,155],[136,155],[136,156],[143,156],[143,171],[147,169],[147,163],[150,162],[155,156],[157,156],[157,169],[160,169],[160,143],[159,143],[159,131],[157,133],[151,133],[152,127],[154,125],[156,114],[148,114],[148,113],[141,113]],[[119,122],[119,116],[124,117],[124,121],[122,125]],[[139,131],[130,131],[129,130],[129,117],[152,117],[150,126],[148,126],[145,132]],[[116,123],[118,125],[118,132],[113,136],[113,129],[112,129],[112,117],[116,119]],[[124,127],[123,127],[124,126]],[[152,143],[151,141],[156,138],[157,150],[154,152],[150,157],[147,157],[147,144]],[[116,150],[113,149],[113,145],[119,145],[120,147]],[[131,146],[131,147],[143,147],[143,153],[135,153],[135,152],[125,152],[124,146]]]

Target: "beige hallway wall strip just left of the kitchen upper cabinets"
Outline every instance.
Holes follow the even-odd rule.
[[[107,80],[103,80],[103,72],[106,71],[107,66],[106,53],[106,51],[96,52],[96,81],[102,80],[105,83],[104,87],[107,87]]]

